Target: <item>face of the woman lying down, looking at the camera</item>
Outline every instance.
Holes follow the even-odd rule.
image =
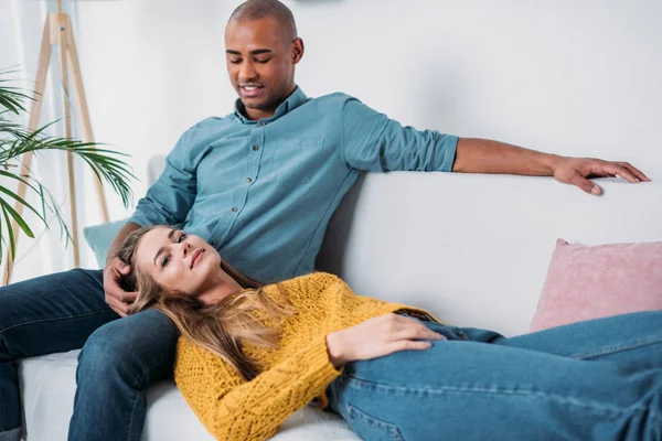
[[[158,227],[142,236],[136,266],[167,290],[193,295],[209,291],[223,272],[221,256],[213,247],[199,236],[169,227]]]

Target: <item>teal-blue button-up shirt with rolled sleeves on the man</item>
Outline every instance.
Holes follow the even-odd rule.
[[[458,138],[416,130],[355,98],[300,88],[268,119],[233,114],[182,135],[129,219],[184,224],[264,282],[313,270],[333,211],[362,172],[452,169]]]

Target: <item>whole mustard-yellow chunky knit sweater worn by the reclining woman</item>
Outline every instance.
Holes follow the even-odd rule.
[[[282,324],[277,349],[244,344],[260,374],[252,381],[216,355],[185,338],[178,343],[174,380],[205,428],[218,440],[264,440],[324,390],[341,372],[329,362],[325,336],[367,319],[407,310],[426,311],[356,295],[335,276],[316,272],[265,288],[286,297],[297,312]]]

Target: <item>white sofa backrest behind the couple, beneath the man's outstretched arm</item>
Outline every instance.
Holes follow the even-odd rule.
[[[153,158],[150,182],[162,168]],[[369,173],[331,218],[318,268],[447,323],[524,333],[557,238],[662,240],[661,184],[598,183],[596,197],[551,178]]]

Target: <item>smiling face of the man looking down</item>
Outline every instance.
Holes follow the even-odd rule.
[[[229,79],[250,119],[269,118],[295,89],[295,65],[301,60],[300,39],[270,18],[232,20],[225,29]]]

